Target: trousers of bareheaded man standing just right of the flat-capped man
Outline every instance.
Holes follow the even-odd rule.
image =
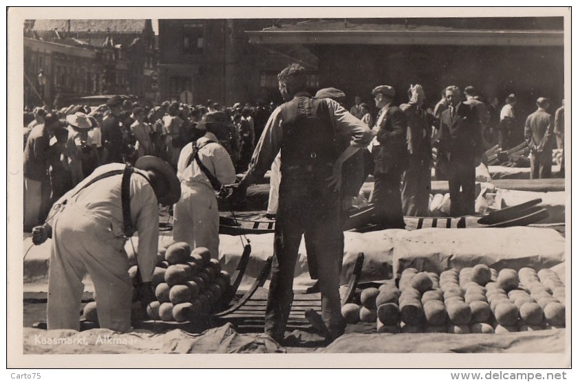
[[[410,157],[403,174],[401,201],[405,216],[427,216],[431,192],[429,161]]]

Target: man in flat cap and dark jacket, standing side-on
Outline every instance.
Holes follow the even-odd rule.
[[[395,89],[381,85],[373,89],[379,109],[373,128],[374,192],[376,223],[384,228],[405,228],[401,207],[400,181],[407,166],[407,118],[392,105]]]

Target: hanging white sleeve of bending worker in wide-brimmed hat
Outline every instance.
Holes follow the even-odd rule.
[[[158,253],[158,201],[149,183],[131,179],[131,189],[131,214],[138,232],[136,261],[142,282],[149,282],[153,277]]]

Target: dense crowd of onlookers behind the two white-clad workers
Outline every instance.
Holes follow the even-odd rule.
[[[271,113],[264,102],[232,107],[211,100],[206,106],[162,102],[145,108],[114,97],[96,108],[71,105],[47,111],[39,107],[25,113],[25,230],[42,223],[54,201],[103,164],[134,164],[153,155],[177,170],[182,148],[199,135],[195,127],[204,115],[217,111],[225,116],[225,123],[215,131],[215,140],[226,149],[235,172],[243,172],[253,155],[255,137]]]

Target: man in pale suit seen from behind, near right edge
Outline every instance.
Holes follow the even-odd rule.
[[[530,179],[552,177],[552,150],[554,148],[554,118],[546,109],[548,98],[536,101],[537,111],[528,115],[524,126],[524,138],[530,148]]]

